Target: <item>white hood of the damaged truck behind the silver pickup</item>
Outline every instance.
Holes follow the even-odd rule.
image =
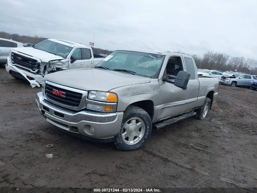
[[[58,55],[54,55],[36,48],[30,48],[30,47],[20,47],[20,48],[13,48],[12,50],[15,50],[17,52],[34,56],[38,59],[40,59],[42,62],[49,62],[50,60],[63,60],[64,58]]]

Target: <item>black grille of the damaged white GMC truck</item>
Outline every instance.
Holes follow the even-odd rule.
[[[39,66],[37,60],[35,59],[31,59],[23,55],[16,54],[14,52],[12,52],[11,56],[12,56],[12,63],[17,64],[21,67],[36,71],[36,69]]]

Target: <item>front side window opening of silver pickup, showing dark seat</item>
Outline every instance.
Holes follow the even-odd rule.
[[[169,78],[173,78],[177,76],[178,72],[180,70],[183,70],[182,62],[180,57],[171,57],[168,60],[167,66],[166,66],[166,73],[168,75],[171,75]]]

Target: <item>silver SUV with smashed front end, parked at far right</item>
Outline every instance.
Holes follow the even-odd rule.
[[[256,80],[256,76],[250,74],[231,73],[223,74],[220,84],[229,85],[231,87],[246,86],[249,87],[250,82]]]

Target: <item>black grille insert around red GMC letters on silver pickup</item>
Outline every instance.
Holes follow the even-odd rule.
[[[61,92],[65,92],[65,98],[59,95],[53,94],[53,89]],[[50,84],[45,85],[45,96],[50,100],[72,107],[78,107],[82,98],[82,93],[69,91],[63,88],[59,88]]]

